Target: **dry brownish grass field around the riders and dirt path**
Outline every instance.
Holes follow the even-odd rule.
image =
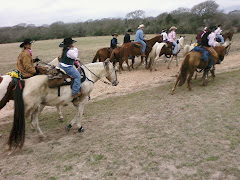
[[[194,38],[186,37],[185,43]],[[91,62],[96,50],[107,47],[110,39],[76,38],[80,59]],[[240,50],[238,39],[240,34],[234,39],[232,54]],[[36,42],[34,54],[49,62],[60,53],[60,42]],[[18,46],[0,45],[0,72],[14,67]],[[7,56],[7,49],[15,55]],[[137,71],[144,74],[143,70]],[[177,87],[174,95],[171,81],[90,101],[82,120],[84,133],[77,133],[75,126],[68,133],[64,131],[74,116],[71,105],[63,109],[63,123],[58,122],[55,111],[40,115],[40,126],[48,136],[45,140],[39,140],[37,132],[30,130],[28,119],[23,149],[10,156],[3,149],[0,151],[0,179],[238,180],[239,73],[240,70],[219,73],[203,87],[198,78],[192,81],[193,91]],[[126,74],[134,75],[125,72],[120,78]],[[12,118],[11,115],[4,120]],[[6,142],[10,129],[11,123],[0,125],[0,146]]]

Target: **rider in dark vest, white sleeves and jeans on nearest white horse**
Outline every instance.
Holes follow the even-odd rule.
[[[73,99],[81,96],[81,75],[80,73],[73,67],[73,63],[78,59],[78,49],[73,46],[73,43],[77,41],[72,38],[65,38],[63,42],[59,45],[59,47],[63,47],[62,55],[60,58],[59,67],[62,68],[66,73],[74,78],[73,86],[72,86],[72,96]]]

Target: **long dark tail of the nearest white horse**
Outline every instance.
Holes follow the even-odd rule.
[[[14,121],[7,144],[9,150],[12,148],[22,148],[25,140],[25,116],[23,102],[23,88],[25,82],[16,81],[14,88]]]

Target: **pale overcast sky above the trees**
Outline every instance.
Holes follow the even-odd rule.
[[[179,7],[192,8],[206,0],[0,0],[0,27],[20,23],[52,24],[84,22],[102,18],[124,18],[127,13],[144,10],[157,16]],[[220,10],[240,10],[240,0],[215,0]]]

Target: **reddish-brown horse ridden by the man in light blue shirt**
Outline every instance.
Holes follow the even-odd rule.
[[[147,67],[148,55],[151,52],[152,47],[156,42],[162,42],[162,36],[161,35],[155,36],[152,39],[145,40],[145,42],[146,42],[145,68],[148,69],[148,67]],[[140,47],[141,47],[141,45],[136,45],[135,42],[124,43],[121,46],[121,49],[120,49],[120,56],[121,57],[120,57],[120,61],[119,61],[119,71],[120,72],[121,72],[121,70],[123,70],[122,64],[123,64],[124,61],[127,63],[128,70],[129,71],[131,70],[130,66],[128,64],[128,57],[129,57],[130,54],[132,56],[140,56],[141,55],[141,48]],[[141,56],[141,62],[138,65],[138,67],[141,66],[142,63],[143,63],[143,56]],[[133,64],[132,64],[132,67],[133,67]]]

